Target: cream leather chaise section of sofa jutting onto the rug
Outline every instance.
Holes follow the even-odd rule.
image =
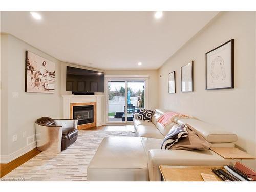
[[[87,168],[88,181],[148,181],[140,137],[106,137]]]

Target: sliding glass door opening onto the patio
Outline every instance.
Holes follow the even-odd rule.
[[[132,123],[144,107],[144,81],[108,81],[107,123]]]

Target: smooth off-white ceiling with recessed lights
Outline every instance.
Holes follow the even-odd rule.
[[[98,69],[158,69],[219,12],[1,12],[10,33],[59,59]],[[138,62],[142,62],[138,66]]]

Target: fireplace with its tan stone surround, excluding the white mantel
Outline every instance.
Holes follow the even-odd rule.
[[[70,103],[70,119],[78,120],[77,129],[96,126],[96,103]]]

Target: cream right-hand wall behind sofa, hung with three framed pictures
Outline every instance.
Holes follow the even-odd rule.
[[[205,90],[205,53],[234,39],[234,89]],[[180,67],[194,61],[194,92],[181,93]],[[176,71],[175,94],[167,75]],[[255,154],[255,13],[224,12],[159,69],[159,105],[238,135],[237,145]]]

